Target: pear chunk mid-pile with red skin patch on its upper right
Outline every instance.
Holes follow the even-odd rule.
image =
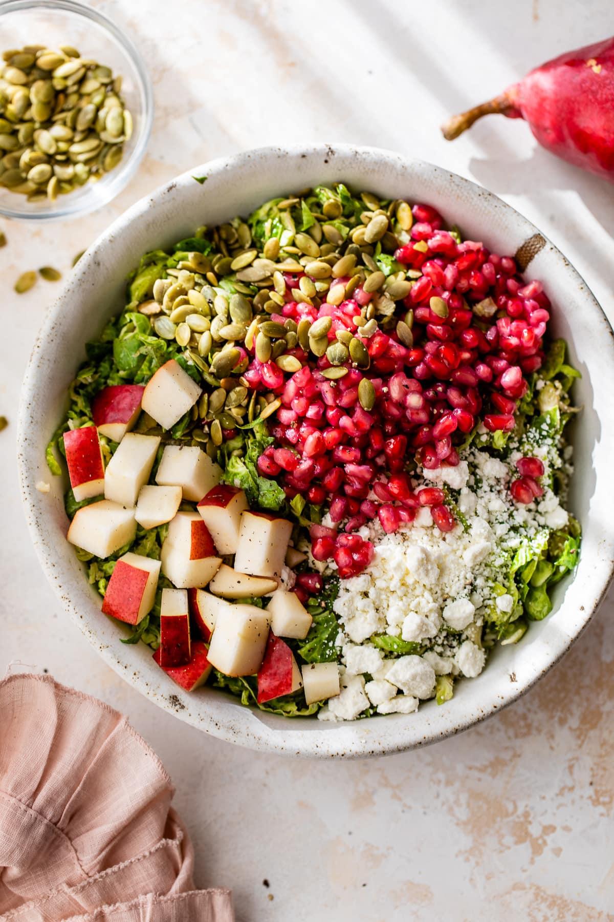
[[[162,573],[178,589],[207,585],[222,562],[198,513],[178,513],[169,523],[160,559]]]

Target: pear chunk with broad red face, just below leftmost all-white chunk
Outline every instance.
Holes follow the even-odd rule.
[[[102,610],[126,624],[138,624],[156,601],[160,561],[128,551],[117,561],[102,599]]]

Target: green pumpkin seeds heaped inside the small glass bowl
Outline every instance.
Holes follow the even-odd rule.
[[[54,201],[118,165],[133,132],[121,77],[69,45],[11,49],[3,60],[0,186]]]

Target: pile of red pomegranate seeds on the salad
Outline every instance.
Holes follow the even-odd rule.
[[[443,491],[414,491],[408,459],[427,470],[454,467],[458,446],[479,422],[487,431],[513,430],[526,375],[543,359],[550,301],[540,283],[524,284],[509,256],[480,242],[458,243],[434,208],[415,205],[412,212],[411,242],[395,258],[416,278],[392,322],[378,318],[385,329],[368,328],[373,296],[363,288],[339,305],[294,301],[303,274],[285,278],[286,302],[272,314],[273,322],[291,318],[297,325],[330,317],[329,343],[349,334],[365,354],[350,349],[344,371],[336,372],[342,376],[331,380],[326,354],[317,358],[297,343],[288,354],[302,367],[288,375],[274,361],[259,361],[252,348],[243,376],[249,387],[281,399],[261,474],[280,479],[290,499],[301,494],[328,506],[335,528],[312,527],[313,556],[334,559],[343,577],[370,562],[370,542],[353,533],[376,515],[389,533],[426,505],[442,532],[454,528]],[[361,387],[365,379],[370,385]],[[516,502],[541,494],[540,465],[537,458],[519,462],[521,476],[510,488]]]

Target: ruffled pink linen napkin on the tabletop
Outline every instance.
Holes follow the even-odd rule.
[[[0,681],[0,917],[233,922],[193,889],[173,786],[125,717],[51,676]]]

